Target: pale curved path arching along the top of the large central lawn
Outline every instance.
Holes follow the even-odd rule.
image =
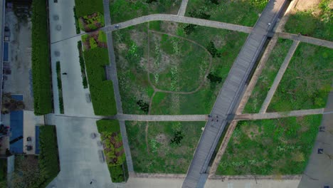
[[[213,28],[224,28],[228,30],[233,31],[240,31],[243,33],[250,33],[252,31],[252,28],[247,26],[239,26],[232,23],[223,23],[218,21],[210,21],[205,19],[196,19],[196,18],[190,18],[190,17],[184,17],[184,16],[177,16],[177,15],[171,15],[171,14],[150,14],[148,16],[142,16],[136,19],[132,19],[129,21],[124,21],[122,23],[113,24],[112,26],[106,26],[103,28],[104,31],[115,31],[117,29],[126,28],[129,26],[135,26],[140,23],[145,23],[147,21],[175,21],[179,23],[191,23],[196,24],[199,26],[208,26]],[[119,25],[120,28],[115,28],[115,25]]]

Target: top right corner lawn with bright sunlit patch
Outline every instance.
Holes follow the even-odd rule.
[[[292,14],[285,23],[285,31],[333,41],[333,14],[329,4],[330,0],[322,0],[313,9],[292,10]]]

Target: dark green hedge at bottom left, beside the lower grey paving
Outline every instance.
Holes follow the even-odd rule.
[[[56,126],[43,125],[39,130],[41,153],[38,157],[40,181],[37,187],[46,187],[60,172]]]

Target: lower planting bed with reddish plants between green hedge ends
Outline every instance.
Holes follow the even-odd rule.
[[[112,182],[126,182],[127,164],[118,120],[98,120],[96,124],[101,134]]]

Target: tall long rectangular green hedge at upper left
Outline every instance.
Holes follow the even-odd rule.
[[[53,110],[46,1],[33,1],[32,11],[33,105],[36,115],[44,115]]]

